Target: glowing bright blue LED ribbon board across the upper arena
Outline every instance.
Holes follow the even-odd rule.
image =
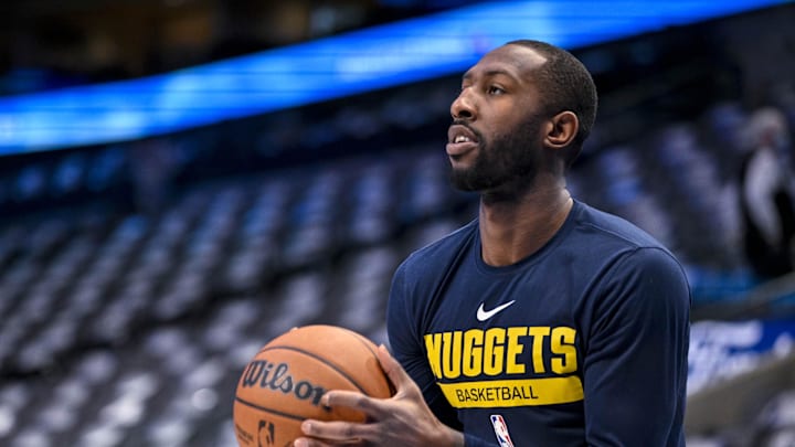
[[[576,49],[781,2],[487,2],[165,75],[0,98],[0,155],[163,135],[448,75],[515,39]]]

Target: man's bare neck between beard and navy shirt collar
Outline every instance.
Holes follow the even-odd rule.
[[[513,200],[481,199],[484,262],[507,266],[538,252],[563,226],[573,203],[564,187],[534,190]]]

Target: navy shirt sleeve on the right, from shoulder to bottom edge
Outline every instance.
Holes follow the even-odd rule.
[[[674,257],[639,248],[608,273],[584,343],[591,446],[683,445],[690,289]]]

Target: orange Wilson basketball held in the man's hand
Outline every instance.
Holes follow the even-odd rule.
[[[320,397],[331,390],[385,398],[389,379],[375,344],[336,326],[305,326],[265,344],[237,382],[234,430],[241,447],[292,446],[304,436],[304,419],[364,422],[350,408],[328,408]]]

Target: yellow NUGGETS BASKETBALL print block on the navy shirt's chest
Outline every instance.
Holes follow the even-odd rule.
[[[428,333],[425,349],[456,408],[551,405],[583,398],[576,330],[523,326]]]

